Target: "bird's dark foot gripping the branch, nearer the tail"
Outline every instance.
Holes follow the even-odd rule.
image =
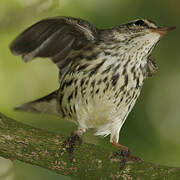
[[[81,145],[82,139],[79,137],[76,131],[73,131],[62,144],[62,148],[66,149],[66,151],[69,153],[71,161],[73,161],[73,152],[76,146],[76,142],[78,143],[78,145]]]

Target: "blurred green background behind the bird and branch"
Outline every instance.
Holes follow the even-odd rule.
[[[1,0],[0,111],[23,123],[68,135],[75,125],[52,115],[17,113],[14,106],[34,100],[58,87],[58,70],[49,60],[28,64],[9,52],[10,42],[27,26],[52,16],[80,17],[99,28],[137,18],[161,26],[176,26],[153,51],[159,72],[146,80],[140,98],[120,133],[120,143],[146,161],[180,166],[180,1],[145,0]],[[87,133],[84,141],[108,146]],[[19,161],[0,159],[0,180],[68,180]]]

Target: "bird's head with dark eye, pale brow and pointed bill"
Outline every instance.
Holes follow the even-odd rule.
[[[175,27],[158,27],[154,22],[146,19],[138,19],[123,24],[116,29],[116,37],[127,48],[142,50],[150,54],[159,39]]]

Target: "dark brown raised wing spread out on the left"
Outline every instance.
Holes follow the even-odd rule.
[[[97,28],[87,21],[57,17],[39,21],[26,29],[12,42],[10,50],[14,55],[21,55],[25,62],[48,57],[63,75],[73,62],[69,54],[97,38]]]

